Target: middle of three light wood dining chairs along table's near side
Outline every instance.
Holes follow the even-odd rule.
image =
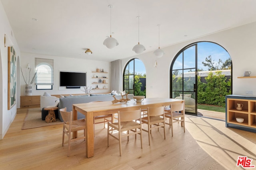
[[[148,115],[142,117],[142,123],[148,124],[148,130],[142,129],[148,133],[148,143],[150,145],[150,134],[152,129],[163,127],[164,128],[164,139],[165,139],[165,115],[164,106],[161,107],[148,107]]]

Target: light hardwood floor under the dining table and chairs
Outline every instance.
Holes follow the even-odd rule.
[[[62,147],[62,125],[21,130],[26,109],[18,109],[17,115],[0,140],[0,169],[242,169],[236,166],[238,156],[252,158],[256,165],[256,134],[226,128],[224,121],[186,115],[186,132],[180,124],[174,124],[174,136],[166,126],[166,140],[162,130],[152,131],[151,145],[143,132],[143,149],[140,138],[123,138],[122,156],[116,139],[110,138],[107,147],[107,130],[96,125],[94,157],[86,158],[85,142],[71,144],[67,157],[68,142]],[[81,133],[79,134],[81,135]]]

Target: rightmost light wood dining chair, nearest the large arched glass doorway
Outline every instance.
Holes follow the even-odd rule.
[[[184,128],[185,132],[185,104],[184,102],[180,104],[170,104],[170,109],[165,109],[165,117],[169,118],[169,123],[166,123],[172,129],[173,136],[173,123],[181,122],[181,126]],[[180,119],[181,118],[181,119]]]

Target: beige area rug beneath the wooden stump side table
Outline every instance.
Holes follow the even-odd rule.
[[[32,129],[37,127],[59,125],[62,123],[63,122],[61,122],[59,119],[57,119],[56,122],[46,123],[44,120],[42,120],[42,113],[40,108],[31,108],[27,110],[27,114],[21,129]]]

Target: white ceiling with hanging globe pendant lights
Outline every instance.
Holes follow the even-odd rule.
[[[256,0],[1,0],[21,52],[114,61],[256,21]],[[103,45],[110,36],[119,45]],[[35,18],[37,21],[35,21]],[[85,54],[86,49],[92,54]]]

